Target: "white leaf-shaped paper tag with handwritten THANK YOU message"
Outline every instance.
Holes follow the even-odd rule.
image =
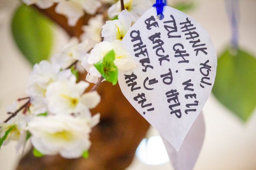
[[[164,6],[162,20],[150,8],[122,42],[139,67],[118,73],[134,108],[179,151],[207,101],[217,57],[208,33],[190,16]]]

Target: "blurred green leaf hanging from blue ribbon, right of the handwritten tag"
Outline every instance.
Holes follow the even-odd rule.
[[[218,58],[212,92],[246,121],[256,106],[256,59],[241,49],[226,49]]]

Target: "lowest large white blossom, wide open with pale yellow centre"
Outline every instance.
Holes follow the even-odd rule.
[[[59,153],[64,158],[78,158],[89,149],[89,133],[98,122],[99,114],[93,117],[39,116],[28,124],[28,130],[33,146],[42,154]]]

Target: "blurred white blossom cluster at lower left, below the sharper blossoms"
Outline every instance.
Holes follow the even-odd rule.
[[[100,96],[96,91],[84,93],[89,83],[76,83],[68,68],[86,55],[83,44],[71,38],[51,63],[43,60],[34,65],[27,82],[29,104],[6,123],[0,123],[0,138],[10,130],[3,145],[18,140],[18,150],[30,134],[33,147],[45,155],[77,158],[89,149],[89,133],[100,118],[99,114],[91,116],[89,109],[98,105]],[[7,112],[15,113],[18,108],[14,102]]]

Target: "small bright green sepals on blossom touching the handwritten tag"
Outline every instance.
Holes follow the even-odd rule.
[[[98,63],[94,64],[96,69],[101,73],[102,77],[113,85],[117,83],[118,68],[114,64],[115,52],[109,51]]]

